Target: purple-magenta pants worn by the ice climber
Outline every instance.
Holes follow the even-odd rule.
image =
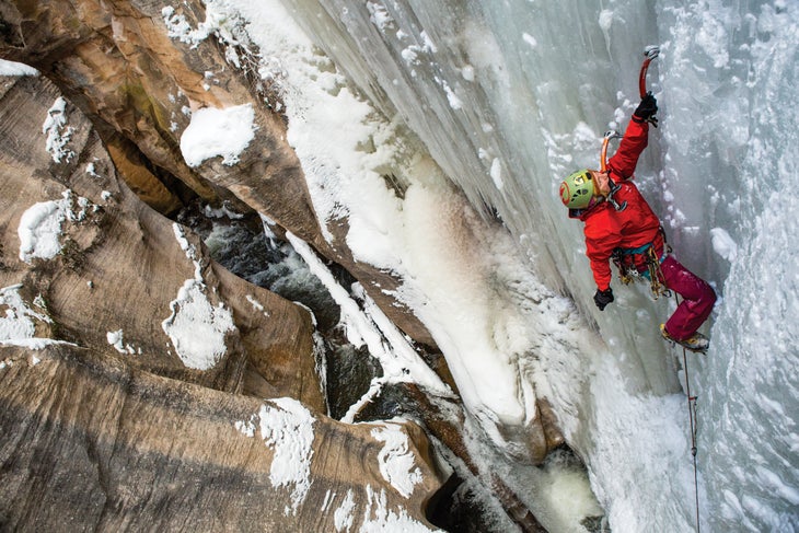
[[[707,282],[685,268],[671,255],[660,264],[663,285],[682,297],[665,331],[676,340],[691,337],[707,320],[716,303],[716,292]]]

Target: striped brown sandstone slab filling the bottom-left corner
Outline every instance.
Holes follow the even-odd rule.
[[[71,345],[0,360],[3,530],[429,530],[435,473],[386,478],[397,453],[427,455],[418,428],[343,425]]]

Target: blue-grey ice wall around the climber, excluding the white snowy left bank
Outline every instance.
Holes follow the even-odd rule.
[[[613,362],[569,398],[583,402],[582,422],[594,431],[574,437],[594,454],[603,503],[627,500],[611,510],[615,524],[633,529],[692,523],[681,460],[663,463],[662,490],[657,479],[641,478],[637,490],[645,494],[633,494],[613,478],[617,468],[647,462],[614,463],[612,449],[629,444],[630,425],[651,433],[656,457],[686,452],[675,437],[681,402],[669,396],[679,391],[678,373],[657,334],[672,304],[616,282],[613,306],[593,308],[581,228],[566,218],[557,185],[572,169],[598,164],[606,129],[626,127],[638,101],[640,53],[661,45],[650,69],[661,127],[651,131],[637,182],[678,256],[723,297],[707,359],[691,358],[700,395],[703,520],[719,531],[741,523],[752,531],[796,528],[797,222],[786,195],[797,177],[796,3],[299,0],[286,7],[369,100],[386,116],[402,116],[474,206],[501,219],[540,277],[574,297],[595,324],[605,341],[597,351]],[[570,364],[571,356],[561,362]],[[647,432],[651,419],[668,420],[674,432],[659,433],[657,425]],[[603,430],[622,436],[595,432]],[[765,437],[753,442],[743,433]],[[754,466],[746,463],[752,457]],[[647,475],[657,471],[649,466]],[[686,503],[671,505],[680,498]]]

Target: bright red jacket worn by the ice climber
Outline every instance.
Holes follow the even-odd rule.
[[[600,290],[611,286],[610,258],[615,248],[629,251],[651,243],[658,257],[663,255],[660,220],[630,181],[638,157],[647,147],[648,135],[648,123],[630,120],[618,150],[607,162],[611,179],[621,187],[613,199],[619,205],[626,201],[627,208],[616,211],[609,201],[603,201],[580,216],[586,223],[586,255]],[[646,269],[641,255],[634,255],[633,260],[639,270]]]

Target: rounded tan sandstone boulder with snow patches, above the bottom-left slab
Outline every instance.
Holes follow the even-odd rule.
[[[69,105],[62,112],[50,109],[54,102],[63,101],[44,78],[7,83],[0,115],[3,139],[25,148],[0,153],[0,218],[5,229],[0,285],[22,283],[32,298],[40,294],[54,321],[48,327],[58,338],[80,339],[81,346],[118,354],[108,333],[121,332],[118,344],[130,364],[231,392],[251,364],[270,383],[283,385],[274,391],[276,395],[323,407],[308,314],[231,276],[208,258],[196,236],[139,201],[117,179],[85,117]],[[46,150],[40,134],[48,113],[63,119],[58,139],[69,139],[57,154],[59,161],[54,161],[53,147]],[[14,230],[31,225],[22,222],[25,213],[43,208],[53,211],[50,223],[60,222],[60,231],[48,232],[39,223],[28,230],[33,234],[27,240],[40,247],[55,234],[60,251],[48,258],[34,250],[23,260],[23,243]],[[193,302],[212,310],[221,305],[236,323],[219,332],[228,346],[224,357],[204,347],[194,350],[190,339],[183,339],[186,348],[181,349],[165,334],[164,321],[173,315],[180,320],[182,308],[192,312]],[[271,313],[271,320],[257,304]],[[196,357],[217,361],[210,366],[192,361]]]

